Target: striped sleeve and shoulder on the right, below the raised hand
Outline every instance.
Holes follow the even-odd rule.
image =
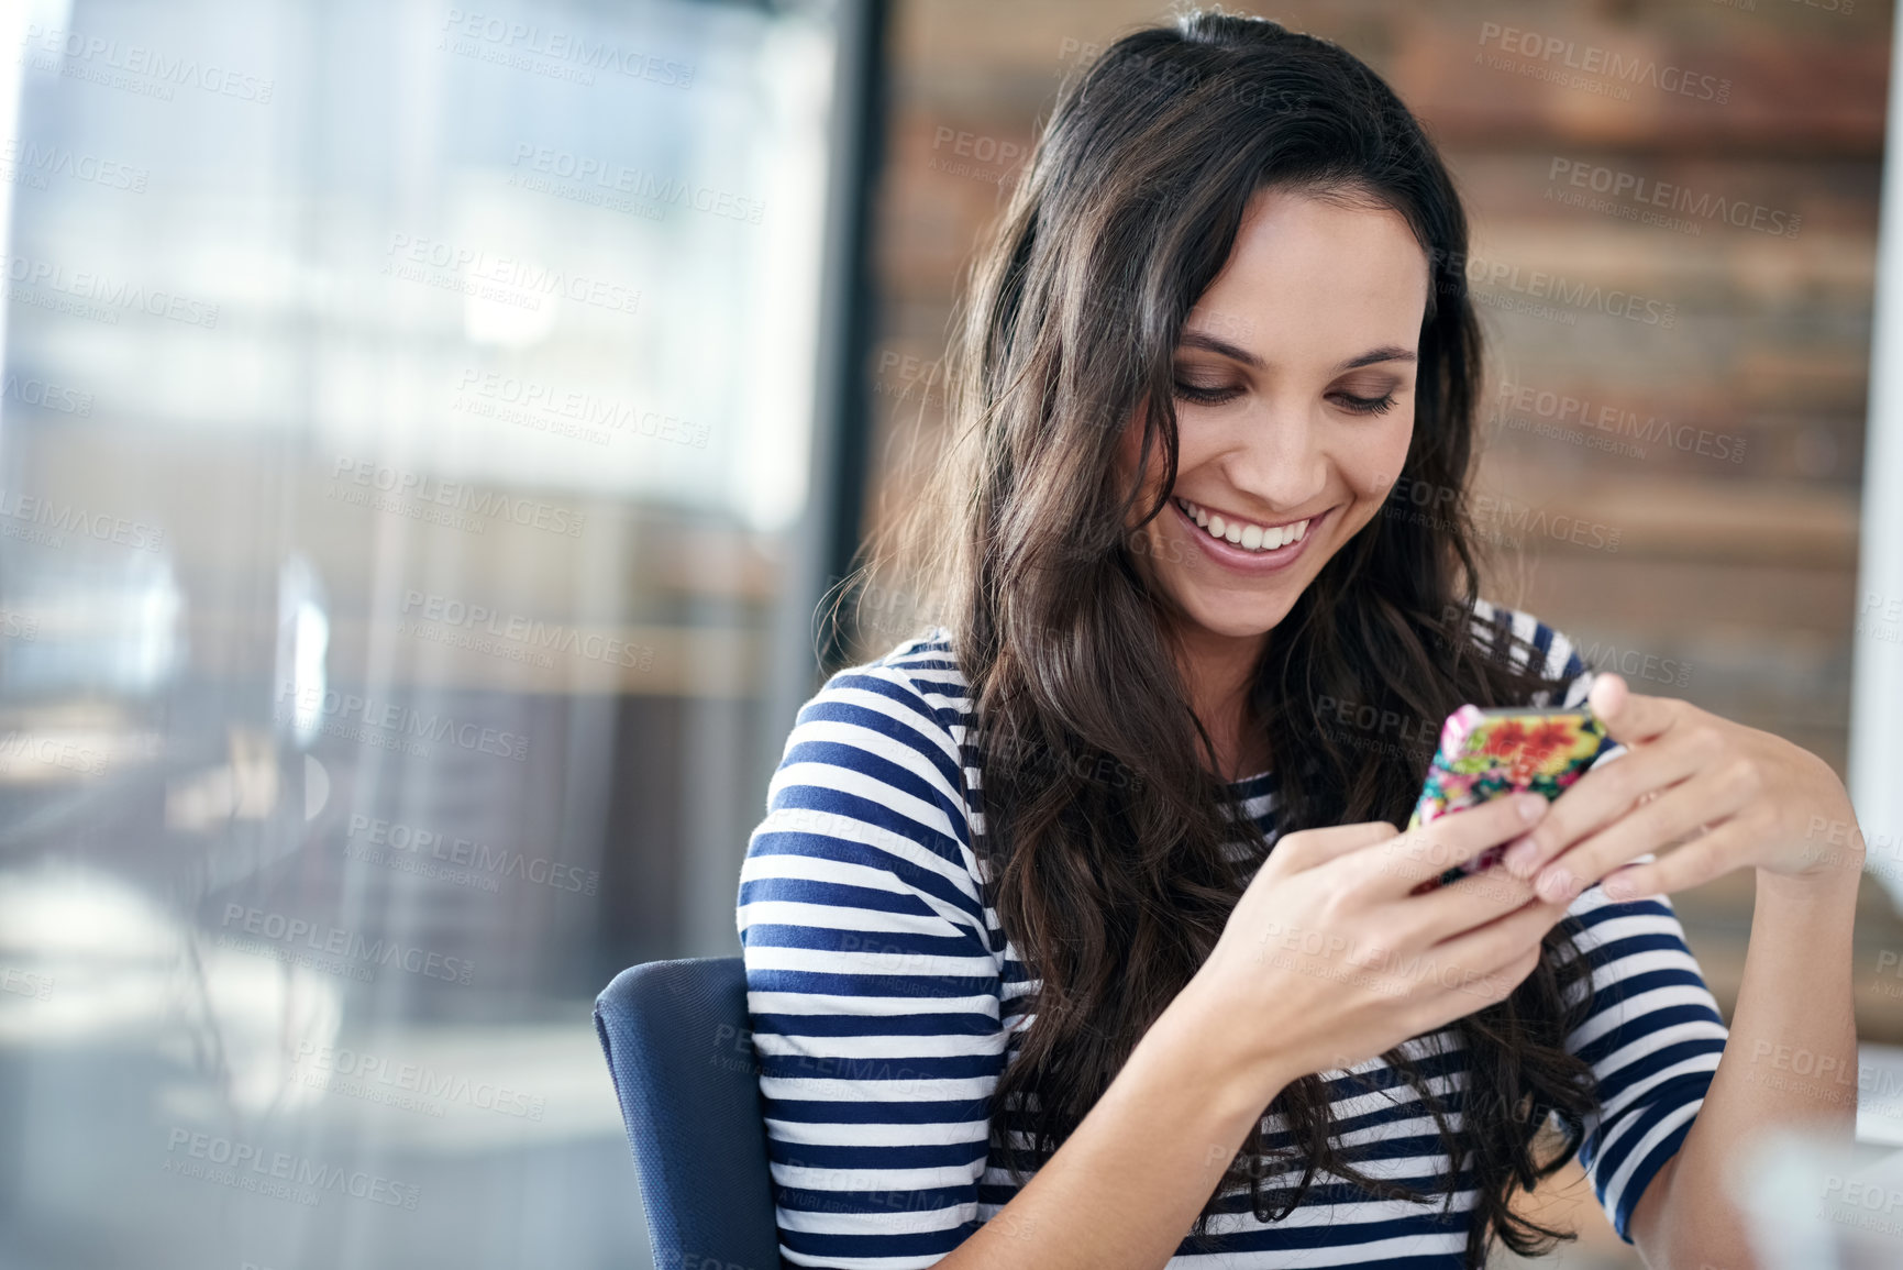
[[[1513,628],[1545,659],[1547,674],[1566,680],[1557,708],[1585,703],[1597,672],[1572,640],[1528,613],[1481,605],[1482,628]],[[1547,704],[1543,697],[1530,704]],[[1625,746],[1608,739],[1593,767],[1621,754]],[[1612,1228],[1631,1243],[1633,1209],[1692,1129],[1728,1030],[1663,895],[1614,903],[1593,885],[1568,914],[1583,927],[1578,944],[1593,973],[1593,1007],[1566,1049],[1599,1080],[1599,1112],[1587,1120],[1579,1163]]]

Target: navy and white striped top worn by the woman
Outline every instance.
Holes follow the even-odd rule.
[[[1481,605],[1479,617],[1496,617]],[[1585,699],[1593,676],[1564,636],[1526,613],[1498,621],[1568,678],[1560,706]],[[1486,623],[1477,630],[1484,644]],[[748,842],[735,922],[780,1255],[795,1266],[931,1266],[1016,1194],[988,1146],[988,1116],[1037,981],[984,903],[967,689],[942,626],[832,676],[799,710]],[[1545,693],[1530,704],[1547,704]],[[1273,773],[1229,794],[1273,843]],[[1663,897],[1619,904],[1591,887],[1570,912],[1585,925],[1595,1005],[1566,1047],[1591,1062],[1600,1101],[1579,1161],[1629,1240],[1633,1205],[1684,1141],[1726,1028]],[[1458,1129],[1460,1042],[1441,1030],[1408,1055]],[[1361,1148],[1357,1167],[1439,1196],[1448,1160],[1414,1087],[1382,1059],[1321,1076],[1340,1142]],[[1265,1118],[1271,1146],[1286,1142],[1279,1121]],[[1300,1207],[1260,1222],[1246,1188],[1231,1188],[1210,1224],[1214,1249],[1186,1240],[1168,1264],[1454,1270],[1473,1200],[1469,1184],[1442,1211],[1442,1198],[1397,1200],[1317,1171]]]

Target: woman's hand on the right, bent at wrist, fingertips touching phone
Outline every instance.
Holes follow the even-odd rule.
[[[1579,777],[1501,859],[1517,878],[1538,874],[1549,903],[1600,878],[1608,899],[1629,901],[1747,866],[1817,882],[1863,870],[1844,783],[1810,750],[1635,693],[1618,674],[1597,676],[1587,704],[1627,752]],[[1682,845],[1629,863],[1673,843]]]

